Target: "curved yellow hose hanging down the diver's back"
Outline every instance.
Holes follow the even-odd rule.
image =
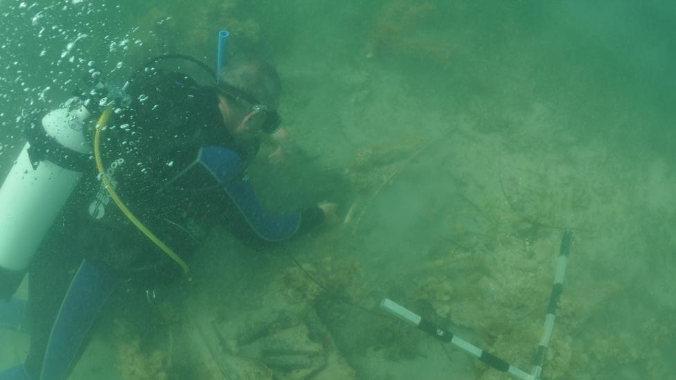
[[[181,266],[183,269],[184,273],[188,273],[190,269],[188,268],[188,264],[184,262],[179,255],[177,255],[174,251],[172,251],[171,248],[169,248],[166,244],[164,244],[160,239],[157,238],[148,228],[143,226],[141,221],[139,219],[136,219],[134,217],[134,214],[125,206],[125,203],[123,203],[122,199],[118,197],[118,194],[115,192],[115,189],[110,183],[110,180],[108,176],[105,174],[105,168],[103,166],[103,161],[101,160],[101,153],[99,150],[99,145],[101,141],[101,132],[103,131],[103,128],[105,125],[108,123],[108,120],[110,118],[110,115],[112,114],[113,107],[109,106],[107,107],[104,111],[103,114],[101,114],[100,118],[98,118],[98,123],[96,123],[96,134],[94,134],[94,159],[96,159],[96,168],[98,169],[98,174],[101,176],[101,180],[103,181],[103,184],[108,190],[108,194],[110,194],[110,197],[113,199],[115,204],[122,210],[122,212],[127,215],[127,218],[129,218],[130,221],[136,226],[136,228],[139,228],[141,232],[145,235],[148,236],[148,239],[150,239],[154,244],[159,246],[159,248],[164,251],[169,257],[172,258],[177,264]]]

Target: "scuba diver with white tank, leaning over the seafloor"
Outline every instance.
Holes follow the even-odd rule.
[[[122,95],[98,91],[29,125],[0,189],[0,326],[30,330],[30,351],[0,380],[66,379],[114,290],[188,275],[214,226],[260,247],[335,216],[328,202],[271,215],[253,192],[247,165],[281,123],[272,65],[234,57],[200,85],[158,69],[165,58],[208,69],[158,57]],[[28,304],[11,299],[26,273]]]

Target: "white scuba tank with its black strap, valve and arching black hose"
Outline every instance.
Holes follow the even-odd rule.
[[[91,113],[84,105],[96,108],[96,105],[103,107],[116,102],[122,107],[134,108],[132,99],[125,92],[127,87],[134,82],[145,82],[147,78],[141,77],[145,69],[155,62],[176,58],[194,62],[213,75],[206,64],[192,57],[159,56],[137,70],[123,89],[109,87],[103,78],[98,78],[100,82],[96,88],[83,94],[84,98],[69,100],[64,108],[36,118],[26,128],[28,143],[0,186],[0,298],[10,298],[15,292],[28,264],[78,186],[82,174],[96,168],[92,158],[93,131],[88,127]],[[213,78],[215,80],[215,75]],[[175,84],[186,87],[187,83]],[[188,87],[195,88],[193,84]],[[83,99],[86,100],[82,102]],[[198,102],[203,99],[190,100]],[[177,261],[183,264],[181,260]]]

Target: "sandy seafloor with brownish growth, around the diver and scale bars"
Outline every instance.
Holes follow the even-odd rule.
[[[216,228],[192,282],[112,302],[72,379],[508,379],[341,300],[392,298],[529,372],[566,228],[546,378],[674,378],[673,111],[648,62],[667,42],[616,43],[628,8],[294,4],[280,46],[268,14],[235,24],[278,66],[296,147],[251,175],[271,208],[335,199],[340,220],[263,252]],[[27,342],[0,334],[4,367]]]

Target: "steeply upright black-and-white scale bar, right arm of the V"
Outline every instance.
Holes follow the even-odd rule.
[[[556,274],[554,275],[554,284],[551,288],[551,295],[549,296],[549,307],[547,307],[547,314],[544,317],[544,333],[540,339],[540,345],[537,346],[535,352],[535,360],[533,360],[533,370],[531,374],[533,379],[540,379],[542,376],[542,365],[547,356],[549,348],[549,341],[551,341],[551,334],[554,331],[554,320],[556,319],[556,311],[561,300],[561,293],[563,293],[563,278],[566,274],[566,266],[568,265],[568,257],[570,249],[573,245],[573,231],[566,230],[561,238],[561,248],[559,249],[559,259],[556,264]]]

